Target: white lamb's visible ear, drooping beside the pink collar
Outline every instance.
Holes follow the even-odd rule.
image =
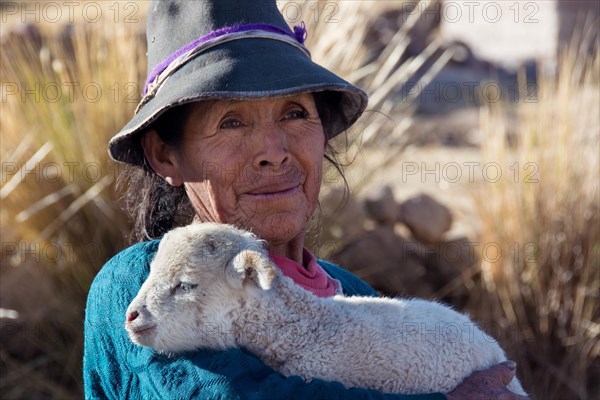
[[[228,273],[240,287],[243,283],[251,283],[263,290],[270,289],[275,279],[275,268],[269,259],[255,250],[243,250],[236,255]]]

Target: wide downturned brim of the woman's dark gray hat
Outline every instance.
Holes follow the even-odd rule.
[[[352,125],[367,106],[366,93],[300,50],[269,39],[244,39],[202,53],[170,75],[156,95],[109,142],[109,154],[130,164],[140,161],[139,133],[178,105],[214,99],[259,99],[307,92],[340,93],[331,116],[332,138]],[[340,115],[341,114],[341,115]]]

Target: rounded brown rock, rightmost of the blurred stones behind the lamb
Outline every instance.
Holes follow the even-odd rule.
[[[434,198],[421,194],[403,202],[399,207],[399,220],[412,235],[425,243],[438,243],[452,226],[452,214]]]

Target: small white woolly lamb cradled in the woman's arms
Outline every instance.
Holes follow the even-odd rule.
[[[469,318],[423,300],[318,298],[229,225],[167,233],[130,304],[131,340],[162,353],[243,347],[280,373],[387,393],[450,392],[506,357]],[[515,378],[512,391],[525,394]]]

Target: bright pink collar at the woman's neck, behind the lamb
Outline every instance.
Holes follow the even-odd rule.
[[[285,276],[316,296],[331,297],[340,293],[340,283],[327,275],[317,263],[317,259],[307,249],[304,249],[302,253],[304,267],[283,256],[269,253],[269,257]]]

